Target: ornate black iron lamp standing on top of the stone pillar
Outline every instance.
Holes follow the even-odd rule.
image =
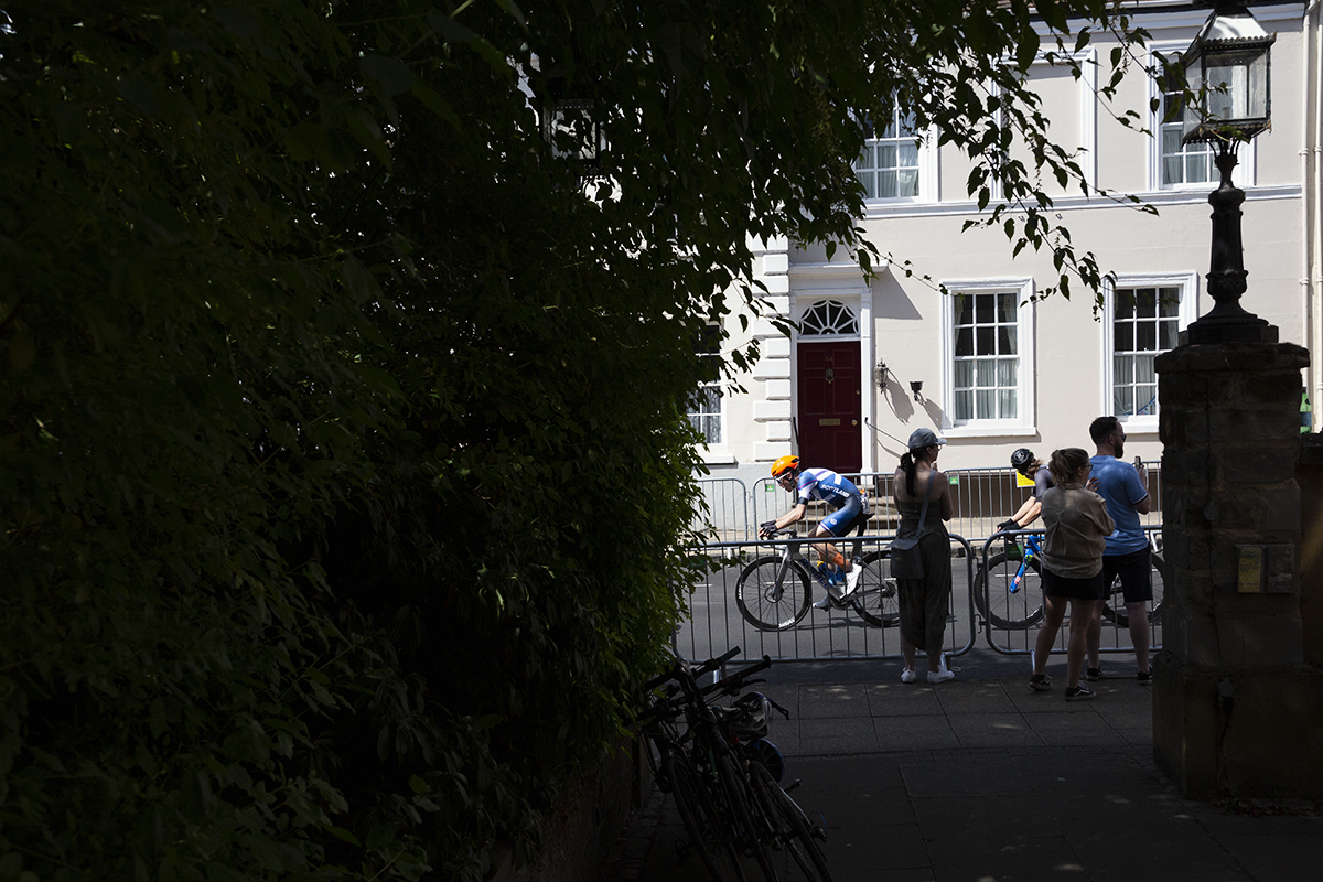
[[[1232,184],[1240,143],[1271,127],[1269,49],[1274,40],[1277,34],[1265,33],[1244,3],[1216,0],[1181,56],[1185,81],[1197,93],[1197,100],[1184,107],[1181,141],[1216,143],[1213,163],[1221,172],[1221,185],[1208,197],[1213,249],[1205,278],[1216,305],[1189,325],[1189,342],[1277,341],[1275,327],[1240,305],[1248,275],[1240,210],[1245,193]]]

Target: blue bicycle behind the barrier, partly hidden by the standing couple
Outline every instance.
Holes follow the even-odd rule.
[[[1043,620],[1043,569],[1039,561],[1043,549],[1039,537],[1043,533],[1005,533],[1005,550],[988,558],[987,567],[980,566],[974,577],[974,606],[979,614],[996,628],[1008,631],[1032,628]],[[1016,538],[1023,542],[1016,542]],[[1150,533],[1152,545],[1150,559],[1154,569],[1154,599],[1148,610],[1148,621],[1158,624],[1162,619],[1163,586],[1167,582],[1167,562],[1159,553]],[[1113,586],[1113,594],[1119,598],[1119,584]],[[1115,606],[1113,606],[1115,603]],[[1129,627],[1126,607],[1119,600],[1107,600],[1102,615],[1122,628]]]

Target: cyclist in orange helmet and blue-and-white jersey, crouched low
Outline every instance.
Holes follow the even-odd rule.
[[[791,524],[802,521],[808,512],[810,500],[822,500],[835,509],[814,528],[814,532],[810,534],[811,538],[820,536],[847,536],[855,528],[861,528],[868,522],[868,502],[853,481],[843,475],[837,475],[828,468],[802,469],[799,468],[798,456],[782,456],[771,464],[771,476],[777,479],[782,489],[795,491],[798,501],[795,502],[795,508],[777,520],[766,521],[758,526],[758,536],[763,538],[770,537],[774,530],[783,530]],[[831,584],[839,587],[844,583],[844,591],[836,599],[840,600],[852,594],[859,584],[859,574],[863,573],[863,567],[857,567],[853,561],[845,559],[845,555],[828,542],[814,545],[814,549],[830,573],[828,581]],[[828,594],[814,606],[819,610],[830,610],[831,602],[832,595]]]

